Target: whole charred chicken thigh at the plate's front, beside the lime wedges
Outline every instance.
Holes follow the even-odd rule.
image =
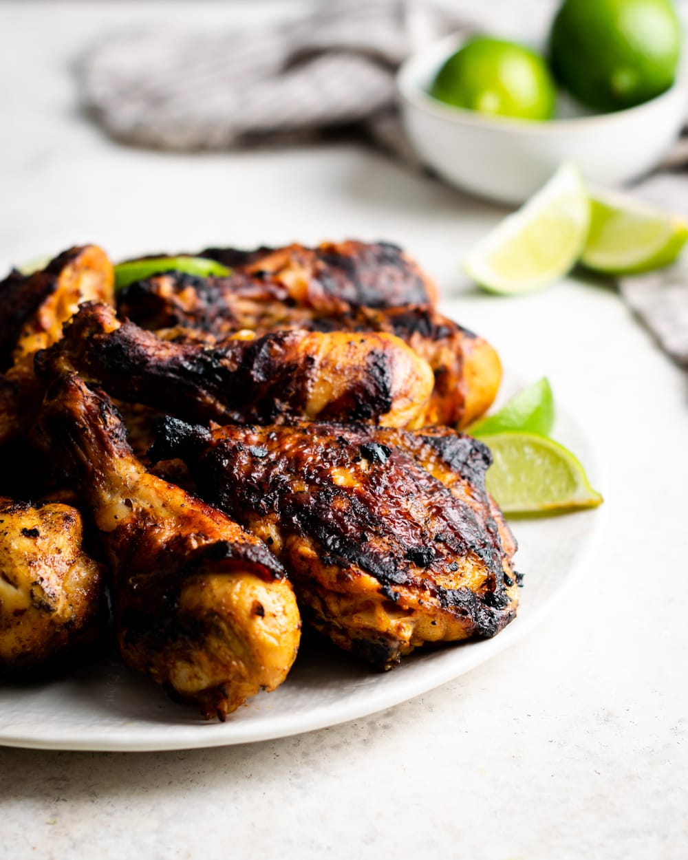
[[[304,619],[374,667],[427,642],[494,636],[515,615],[515,544],[476,439],[167,419],[151,458],[170,456],[284,563]]]

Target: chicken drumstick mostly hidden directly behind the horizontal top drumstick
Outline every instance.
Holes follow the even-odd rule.
[[[390,291],[390,296],[399,292]],[[494,348],[427,302],[392,306],[378,298],[377,308],[347,302],[337,306],[329,298],[318,301],[312,291],[288,289],[270,272],[259,277],[241,270],[230,278],[159,274],[123,290],[119,309],[120,316],[144,329],[187,342],[212,344],[244,329],[256,335],[286,329],[396,335],[433,368],[428,424],[467,427],[488,409],[501,382]]]

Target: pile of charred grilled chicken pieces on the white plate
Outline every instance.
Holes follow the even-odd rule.
[[[114,630],[224,720],[286,679],[302,618],[377,669],[494,636],[516,544],[459,432],[494,349],[389,243],[200,255],[230,273],[115,295],[89,245],[0,283],[0,675]]]

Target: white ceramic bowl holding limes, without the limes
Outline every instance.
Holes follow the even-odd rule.
[[[566,116],[565,97],[554,120],[487,116],[445,105],[428,95],[439,67],[458,50],[453,35],[402,64],[396,83],[402,120],[421,161],[452,185],[502,203],[522,203],[564,161],[588,181],[618,185],[647,173],[677,138],[688,114],[685,67],[666,93],[613,114]],[[564,114],[564,115],[562,115]]]

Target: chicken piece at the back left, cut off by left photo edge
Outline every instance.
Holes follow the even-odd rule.
[[[114,273],[95,245],[71,248],[30,275],[17,271],[0,282],[0,445],[31,427],[43,389],[34,376],[34,353],[58,341],[79,304],[112,303]]]

